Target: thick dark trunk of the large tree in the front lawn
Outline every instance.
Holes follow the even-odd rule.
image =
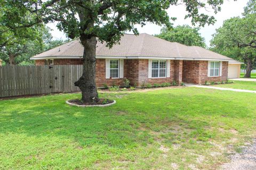
[[[80,38],[84,46],[83,54],[83,75],[75,82],[82,91],[82,100],[84,103],[93,103],[98,101],[98,92],[95,83],[95,65],[96,65],[96,37]]]

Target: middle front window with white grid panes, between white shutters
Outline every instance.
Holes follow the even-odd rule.
[[[152,78],[166,77],[166,60],[152,61]]]

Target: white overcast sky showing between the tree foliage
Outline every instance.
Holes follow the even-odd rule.
[[[215,29],[221,27],[224,20],[229,19],[233,16],[241,16],[243,8],[246,5],[248,0],[224,0],[224,4],[221,6],[221,12],[216,15],[212,11],[206,11],[205,13],[209,15],[214,15],[217,22],[214,25],[205,25],[204,28],[201,28],[200,33],[205,38],[205,43],[207,46],[210,46],[210,40],[212,35],[215,32]],[[176,17],[177,20],[174,21],[174,25],[183,25],[188,24],[191,26],[191,19],[184,19],[186,15],[185,6],[171,6],[167,10],[170,17]],[[63,32],[60,32],[54,23],[47,24],[52,29],[52,36],[54,39],[66,39],[66,36]],[[155,35],[160,33],[161,27],[155,24],[148,23],[143,28],[139,25],[136,26],[140,33],[148,33],[150,35]],[[131,32],[127,32],[131,33]]]

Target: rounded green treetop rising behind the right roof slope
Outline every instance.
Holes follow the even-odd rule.
[[[189,25],[179,25],[175,28],[163,28],[156,37],[170,42],[177,42],[187,46],[206,47],[204,38],[198,32],[199,28],[192,28]]]

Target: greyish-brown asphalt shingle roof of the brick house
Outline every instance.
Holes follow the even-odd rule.
[[[79,40],[74,40],[44,53],[31,57],[33,60],[40,58],[75,58],[83,56],[83,46]],[[177,60],[233,60],[229,57],[214,53],[197,46],[185,46],[157,38],[147,33],[139,36],[125,34],[119,44],[112,48],[106,43],[97,43],[96,56],[100,57],[165,57]]]

